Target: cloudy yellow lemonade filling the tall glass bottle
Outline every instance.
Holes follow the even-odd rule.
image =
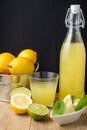
[[[69,48],[63,44],[60,54],[60,99],[67,94],[81,97],[84,92],[85,59],[83,43],[70,43]]]

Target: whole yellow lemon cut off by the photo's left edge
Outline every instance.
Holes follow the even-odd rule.
[[[15,56],[9,52],[4,52],[0,54],[0,73],[10,74],[8,64],[13,60]]]

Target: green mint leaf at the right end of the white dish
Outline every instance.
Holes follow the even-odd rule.
[[[75,111],[84,108],[86,105],[87,105],[87,95],[83,94],[75,108]]]

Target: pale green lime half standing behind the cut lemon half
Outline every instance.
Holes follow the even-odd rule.
[[[17,93],[26,94],[31,97],[31,91],[28,88],[25,87],[18,87],[11,91],[11,96]]]

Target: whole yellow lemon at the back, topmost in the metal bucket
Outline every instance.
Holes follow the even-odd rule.
[[[18,57],[26,57],[35,64],[37,61],[37,52],[32,49],[24,49],[18,54]]]

